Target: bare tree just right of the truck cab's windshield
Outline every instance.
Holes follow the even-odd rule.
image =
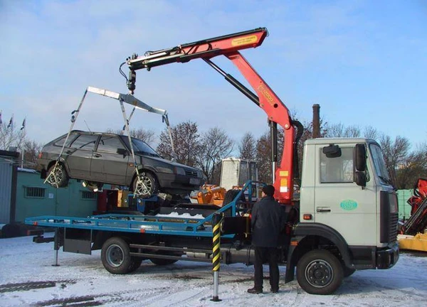
[[[386,168],[389,171],[391,181],[396,185],[396,188],[401,188],[397,185],[397,170],[404,167],[411,145],[404,136],[396,136],[396,139],[392,141],[391,137],[385,134],[380,137],[379,143],[383,150],[384,161],[386,162]]]

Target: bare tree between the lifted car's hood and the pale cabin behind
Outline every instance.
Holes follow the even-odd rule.
[[[201,168],[207,183],[212,182],[216,164],[233,151],[234,141],[226,131],[215,127],[201,136],[200,150],[197,152],[197,166]]]

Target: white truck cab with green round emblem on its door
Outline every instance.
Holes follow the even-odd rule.
[[[306,264],[308,260],[302,260],[307,249],[315,247],[312,258],[323,259],[325,255],[318,255],[319,251],[334,255],[343,266],[344,276],[356,269],[387,269],[399,259],[396,192],[376,141],[307,140],[300,202],[296,205],[300,222],[294,227],[288,263],[292,266],[298,262],[297,266],[305,269],[300,273],[305,276],[297,278],[305,279],[312,293],[327,288],[322,287],[329,282],[327,277],[316,279],[315,274],[320,276],[319,267],[331,262],[312,259],[311,266]],[[330,271],[333,267],[324,273]],[[289,267],[288,274],[293,277]]]

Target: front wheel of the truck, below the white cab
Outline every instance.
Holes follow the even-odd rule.
[[[332,294],[343,279],[342,264],[325,249],[307,252],[297,264],[297,281],[310,294]]]

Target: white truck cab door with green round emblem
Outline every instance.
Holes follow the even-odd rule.
[[[374,180],[368,176],[363,189],[354,182],[354,146],[342,144],[341,154],[330,158],[324,146],[316,145],[315,222],[337,230],[349,245],[376,245]]]

